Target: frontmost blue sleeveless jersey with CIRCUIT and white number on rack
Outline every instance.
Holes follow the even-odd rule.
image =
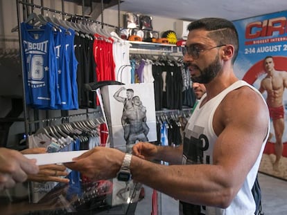
[[[26,104],[38,109],[55,107],[56,82],[53,27],[29,31],[33,26],[21,23]]]

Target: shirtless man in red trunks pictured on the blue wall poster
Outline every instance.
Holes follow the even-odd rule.
[[[276,160],[273,163],[273,169],[279,171],[279,161],[283,152],[282,136],[285,127],[283,94],[284,89],[287,87],[287,73],[286,71],[275,70],[272,56],[265,57],[263,63],[267,75],[261,81],[259,91],[261,93],[264,91],[267,92],[266,102],[268,104],[270,118],[272,118],[276,138]]]

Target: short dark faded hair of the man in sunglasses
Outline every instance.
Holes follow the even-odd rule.
[[[187,26],[187,30],[205,29],[210,31],[208,37],[217,41],[217,45],[232,44],[234,55],[232,64],[238,55],[238,32],[231,21],[222,18],[204,18],[193,21]]]

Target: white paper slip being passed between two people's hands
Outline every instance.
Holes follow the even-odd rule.
[[[56,163],[73,162],[73,158],[80,156],[88,150],[80,151],[60,151],[53,153],[31,153],[26,154],[26,158],[37,160],[36,165],[51,165]]]

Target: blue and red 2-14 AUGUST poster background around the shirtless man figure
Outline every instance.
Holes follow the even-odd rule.
[[[267,73],[264,58],[272,56],[275,70],[287,72],[287,11],[233,21],[239,36],[239,52],[234,63],[234,73],[259,89],[261,80]],[[266,98],[266,91],[263,92]],[[283,95],[285,129],[282,141],[284,150],[279,169],[272,168],[275,160],[275,131],[270,121],[270,139],[264,149],[259,171],[287,180],[287,89]],[[285,163],[284,163],[285,162]],[[278,171],[279,170],[279,171]]]

